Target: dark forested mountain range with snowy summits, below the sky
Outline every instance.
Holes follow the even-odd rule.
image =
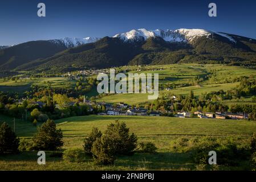
[[[112,38],[41,40],[0,49],[0,71],[64,72],[184,61],[255,64],[256,40],[202,29],[140,28]]]

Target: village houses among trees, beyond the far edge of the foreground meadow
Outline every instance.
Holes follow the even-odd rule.
[[[18,104],[22,104],[22,102],[25,99],[18,100]],[[42,108],[44,105],[46,105],[44,102],[40,101],[34,101],[30,102],[30,104],[38,105],[38,107]],[[71,101],[68,102],[68,106],[74,106],[74,105],[87,105],[88,106],[88,113],[95,113],[94,108],[104,108],[101,109],[101,112],[95,113],[97,115],[141,115],[141,116],[169,116],[169,117],[178,117],[178,118],[202,118],[202,119],[248,119],[249,114],[247,113],[230,113],[230,112],[218,112],[215,113],[209,113],[204,111],[161,111],[161,110],[148,110],[143,107],[138,106],[131,106],[128,104],[125,104],[124,102],[119,102],[118,104],[109,104],[106,102],[96,102],[96,101],[90,101],[86,100],[84,97],[84,100],[82,102],[75,102]],[[62,109],[60,105],[55,105],[56,109]]]

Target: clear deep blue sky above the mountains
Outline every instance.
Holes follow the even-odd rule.
[[[39,2],[46,17],[37,16]],[[210,2],[217,18],[208,16]],[[204,28],[256,38],[256,1],[76,1],[0,2],[0,45],[30,40],[113,36],[133,28]]]

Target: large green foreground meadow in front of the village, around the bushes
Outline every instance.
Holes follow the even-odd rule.
[[[0,116],[1,121],[9,122],[13,126],[12,118]],[[134,156],[120,156],[114,166],[95,166],[91,159],[86,163],[66,163],[61,158],[50,157],[47,153],[47,164],[39,166],[36,163],[36,152],[25,152],[20,155],[0,157],[0,169],[17,170],[194,170],[187,153],[172,150],[172,141],[180,137],[195,137],[201,135],[227,138],[230,136],[248,138],[256,132],[256,122],[217,120],[217,119],[186,119],[168,117],[128,117],[128,116],[99,116],[90,115],[71,117],[56,121],[58,128],[64,135],[64,149],[82,148],[83,139],[90,133],[92,127],[99,127],[104,131],[107,125],[115,119],[124,121],[131,132],[139,137],[139,141],[151,141],[156,144],[158,154],[135,154]],[[36,128],[29,122],[16,121],[15,128],[19,137],[31,138]],[[237,169],[237,168],[229,168]],[[239,169],[239,168],[238,168]]]

